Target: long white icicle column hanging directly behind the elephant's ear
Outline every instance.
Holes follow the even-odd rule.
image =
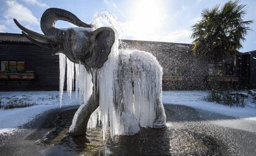
[[[116,111],[114,104],[114,84],[116,79],[116,70],[118,66],[118,39],[116,39],[111,54],[109,54],[108,60],[104,66],[98,70],[98,89],[100,94],[100,112],[101,112],[101,123],[103,129],[103,139],[108,134],[108,128],[110,127],[111,136],[116,134]],[[108,125],[109,123],[109,125]]]

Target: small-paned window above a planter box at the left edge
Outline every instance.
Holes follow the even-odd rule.
[[[22,61],[1,61],[1,71],[9,71],[10,73],[23,72],[25,70],[25,62]]]

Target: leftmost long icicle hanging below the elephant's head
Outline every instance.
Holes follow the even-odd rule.
[[[62,95],[66,73],[66,55],[59,53],[59,107],[62,106]]]

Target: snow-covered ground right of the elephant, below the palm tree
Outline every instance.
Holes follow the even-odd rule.
[[[231,117],[256,121],[255,103],[251,98],[245,99],[245,107],[229,107],[216,102],[205,101],[207,91],[163,91],[163,104],[177,104],[221,113]]]

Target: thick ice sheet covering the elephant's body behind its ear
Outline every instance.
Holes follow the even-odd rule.
[[[162,74],[152,54],[129,50],[119,53],[116,44],[113,46],[109,60],[98,71],[104,138],[108,129],[113,138],[116,134],[135,134],[140,127],[165,125]]]

